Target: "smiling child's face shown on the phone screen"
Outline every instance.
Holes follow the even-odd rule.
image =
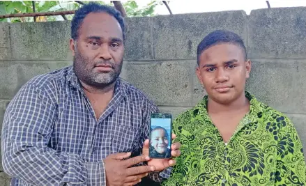
[[[168,144],[168,135],[165,130],[153,130],[151,133],[151,146],[153,146],[158,153],[166,153]]]

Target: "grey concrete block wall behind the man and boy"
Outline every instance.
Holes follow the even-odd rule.
[[[177,116],[205,94],[195,75],[197,45],[215,29],[238,33],[252,60],[247,91],[284,112],[306,149],[306,8],[132,17],[121,77]],[[31,77],[72,64],[70,22],[0,23],[0,123]],[[1,126],[1,124],[0,124]],[[306,150],[305,150],[306,151]],[[9,185],[0,163],[0,186]]]

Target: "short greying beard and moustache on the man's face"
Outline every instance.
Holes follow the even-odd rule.
[[[95,65],[105,64],[112,67],[110,72],[97,72],[94,71]],[[118,79],[123,65],[123,59],[120,63],[111,61],[91,61],[88,57],[83,56],[75,47],[75,56],[73,57],[73,68],[75,75],[84,83],[95,86],[98,88],[104,88],[116,82]]]

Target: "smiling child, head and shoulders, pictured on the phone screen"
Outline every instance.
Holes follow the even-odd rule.
[[[150,154],[152,157],[171,157],[169,146],[169,134],[163,127],[155,127],[151,130]]]

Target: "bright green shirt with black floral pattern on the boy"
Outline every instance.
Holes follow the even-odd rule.
[[[181,156],[162,185],[305,185],[303,148],[284,114],[250,93],[250,112],[225,144],[209,118],[207,96],[173,123]]]

